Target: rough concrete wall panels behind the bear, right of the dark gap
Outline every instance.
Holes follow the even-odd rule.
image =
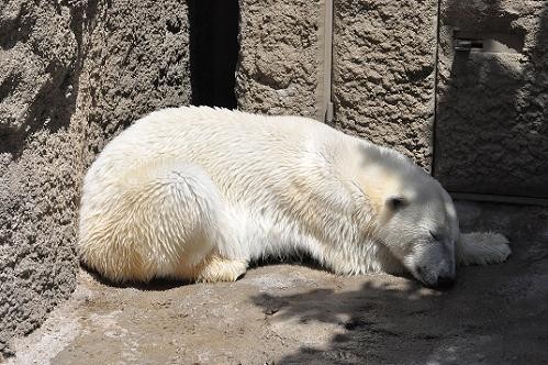
[[[546,1],[333,2],[334,126],[434,164],[451,191],[548,197]],[[241,109],[318,117],[323,18],[242,1]],[[455,52],[456,30],[483,51]]]

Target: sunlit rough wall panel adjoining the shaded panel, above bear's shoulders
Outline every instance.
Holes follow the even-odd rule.
[[[335,0],[335,125],[430,168],[434,0]]]

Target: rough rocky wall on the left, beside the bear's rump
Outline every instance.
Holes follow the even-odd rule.
[[[176,0],[0,3],[0,353],[75,288],[94,154],[139,115],[188,103],[187,46]]]

